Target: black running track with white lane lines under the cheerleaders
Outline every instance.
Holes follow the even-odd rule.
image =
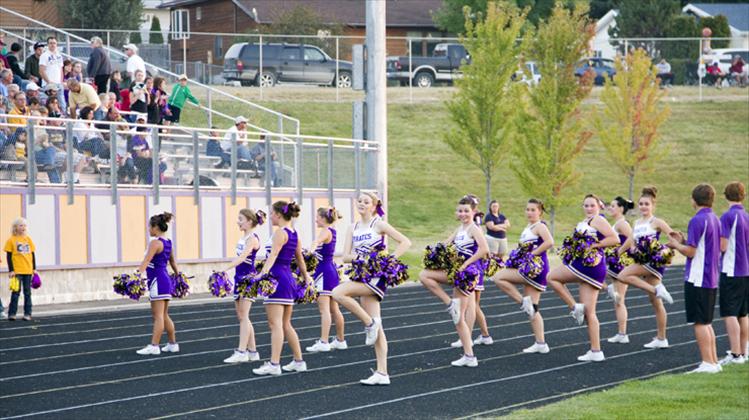
[[[699,360],[692,328],[685,323],[683,268],[668,271],[665,284],[674,297],[667,305],[671,348],[642,345],[655,334],[647,296],[630,289],[630,344],[609,344],[616,332],[613,303],[601,295],[604,363],[583,363],[589,348],[585,326],[578,327],[556,295],[541,301],[547,355],[523,354],[533,338],[518,305],[491,285],[484,312],[495,343],[477,346],[479,367],[454,368],[460,356],[444,306],[421,287],[392,290],[383,304],[392,385],[365,387],[374,353],[364,346],[361,324],[345,314],[349,349],[307,354],[309,371],[258,377],[261,362],[222,363],[236,346],[238,327],[231,299],[172,308],[181,353],[138,356],[148,342],[147,310],[40,316],[32,323],[0,324],[0,417],[47,418],[401,418],[500,415],[598,390],[632,378],[684,371]],[[573,292],[576,292],[573,290]],[[576,293],[575,293],[576,294]],[[269,356],[269,332],[261,304],[252,308],[258,349]],[[294,326],[302,347],[319,334],[314,305],[298,306]],[[716,322],[718,352],[727,346]],[[477,332],[474,332],[474,336]],[[283,363],[290,351],[284,348]]]

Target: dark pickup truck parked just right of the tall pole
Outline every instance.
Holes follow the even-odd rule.
[[[461,77],[460,65],[470,63],[465,48],[460,44],[437,44],[431,57],[388,57],[387,78],[407,86],[409,80],[418,87],[426,88],[434,82],[452,82]]]

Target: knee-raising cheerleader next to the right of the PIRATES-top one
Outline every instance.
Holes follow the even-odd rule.
[[[489,245],[486,243],[481,228],[474,223],[474,213],[478,206],[478,200],[472,196],[465,196],[458,201],[455,210],[457,219],[461,225],[447,239],[448,243],[455,244],[458,253],[465,258],[465,262],[458,271],[464,271],[468,267],[476,267],[479,279],[484,271],[481,259],[489,253]],[[472,296],[473,290],[468,288],[453,287],[452,299],[442,289],[442,284],[450,284],[448,273],[445,270],[423,270],[419,273],[419,280],[432,294],[437,296],[445,305],[447,312],[452,317],[455,329],[460,337],[463,347],[463,356],[452,362],[453,366],[478,366],[478,360],[473,354],[473,341],[471,330],[468,328],[468,316],[475,318],[475,300]],[[454,285],[453,285],[454,286]]]

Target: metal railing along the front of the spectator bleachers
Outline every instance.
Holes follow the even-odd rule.
[[[371,141],[300,135],[290,143],[282,133],[165,129],[0,114],[0,184],[27,187],[32,204],[40,185],[66,187],[68,203],[78,186],[109,188],[113,203],[122,188],[152,189],[156,203],[162,188],[192,189],[196,203],[203,190],[230,190],[234,202],[240,190],[264,189],[270,203],[277,190],[299,200],[304,191],[323,190],[332,200],[334,190],[376,187],[372,171],[379,148]],[[285,155],[294,158],[284,160]],[[142,185],[131,184],[134,179]]]

